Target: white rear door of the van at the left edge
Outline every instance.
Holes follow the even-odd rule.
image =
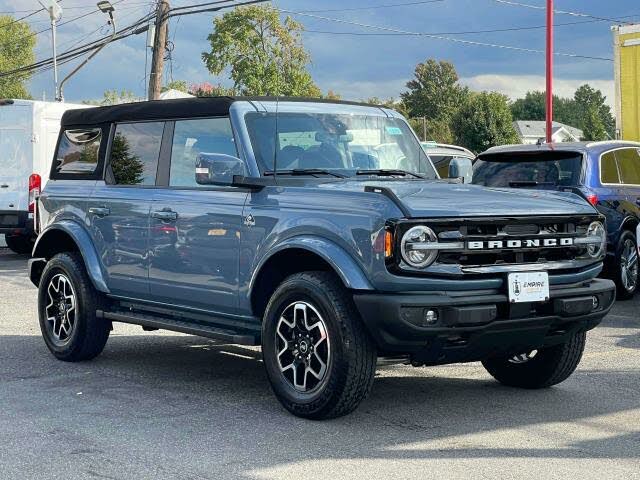
[[[0,107],[0,212],[28,209],[33,162],[31,122],[28,105]]]

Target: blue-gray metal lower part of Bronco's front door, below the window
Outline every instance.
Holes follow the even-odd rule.
[[[235,313],[243,189],[159,188],[154,192],[149,284],[154,301]],[[154,218],[171,210],[176,220]]]

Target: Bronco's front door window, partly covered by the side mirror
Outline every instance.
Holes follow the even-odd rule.
[[[201,187],[196,183],[198,157],[214,153],[238,155],[229,118],[177,121],[173,131],[169,185]]]

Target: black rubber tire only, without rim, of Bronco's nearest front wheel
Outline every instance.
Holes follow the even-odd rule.
[[[280,371],[276,328],[284,311],[295,302],[313,306],[323,317],[330,342],[324,381],[317,390],[297,391]],[[286,278],[267,305],[262,327],[262,354],[273,391],[296,416],[323,420],[346,415],[366,398],[376,368],[376,348],[348,291],[329,272],[304,272]]]

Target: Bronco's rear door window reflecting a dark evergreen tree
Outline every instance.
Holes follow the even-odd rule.
[[[116,125],[107,165],[113,185],[155,185],[164,122]]]

